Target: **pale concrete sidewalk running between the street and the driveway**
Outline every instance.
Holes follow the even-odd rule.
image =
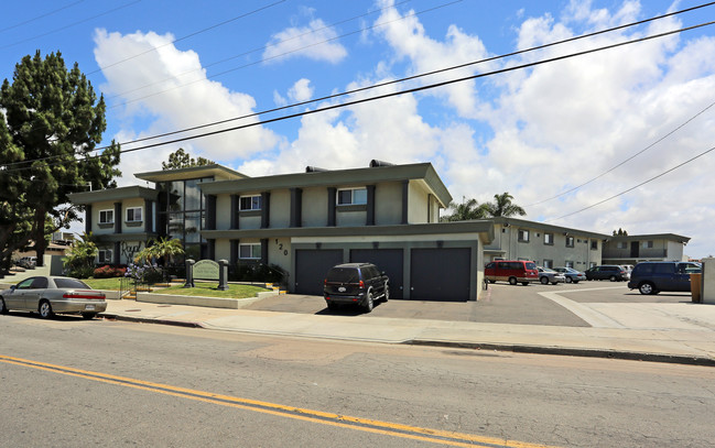
[[[713,306],[695,309],[687,304],[639,304],[626,308],[620,306],[617,316],[608,317],[609,310],[600,305],[600,309],[593,307],[588,313],[598,314],[602,316],[599,321],[611,321],[613,325],[565,327],[218,309],[134,301],[107,302],[108,308],[102,315],[119,320],[250,334],[715,367]],[[694,317],[696,315],[697,318]],[[644,319],[649,321],[648,325]]]

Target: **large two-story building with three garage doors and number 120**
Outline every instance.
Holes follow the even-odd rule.
[[[160,236],[188,258],[275,264],[289,291],[321,294],[327,270],[372,262],[391,296],[476,299],[489,221],[440,222],[452,199],[430,163],[248,177],[220,165],[136,174],[151,187],[72,196],[87,207],[99,262],[129,263]]]

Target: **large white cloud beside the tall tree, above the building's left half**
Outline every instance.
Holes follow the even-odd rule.
[[[171,34],[153,32],[122,35],[96,31],[95,58],[99,66],[107,67],[102,69],[107,79],[102,91],[109,96],[109,107],[117,105],[123,109],[124,125],[136,128],[137,120],[142,119],[143,131],[158,134],[254,111],[256,101],[250,95],[230,91],[221,84],[208,80],[198,55],[193,51],[177,50],[172,44],[173,40]],[[131,58],[134,55],[140,56]],[[131,59],[112,65],[127,58]],[[204,131],[257,120],[231,121]],[[272,131],[253,127],[241,132],[193,140],[183,146],[193,146],[197,155],[221,162],[273,149],[279,141]],[[154,167],[149,170],[155,168],[155,161],[152,163]]]

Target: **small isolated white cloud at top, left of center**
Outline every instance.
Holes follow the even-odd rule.
[[[337,64],[346,56],[347,50],[337,42],[335,30],[321,19],[312,20],[307,26],[292,26],[273,34],[263,52],[267,63],[307,57]]]

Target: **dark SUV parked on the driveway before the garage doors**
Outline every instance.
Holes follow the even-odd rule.
[[[353,304],[370,313],[375,301],[387,302],[390,298],[390,278],[375,264],[338,264],[327,272],[323,297],[329,309],[343,304]]]

